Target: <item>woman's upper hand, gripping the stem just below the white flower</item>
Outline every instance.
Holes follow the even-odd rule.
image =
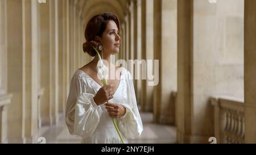
[[[93,98],[94,102],[99,106],[113,98],[113,84],[101,87]]]

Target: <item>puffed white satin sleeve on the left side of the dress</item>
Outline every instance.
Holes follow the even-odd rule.
[[[86,93],[85,82],[79,76],[73,76],[65,111],[65,121],[71,135],[86,138],[96,129],[102,109],[93,97],[93,94]]]

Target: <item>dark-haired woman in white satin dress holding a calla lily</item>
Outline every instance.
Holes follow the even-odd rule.
[[[81,136],[82,143],[122,143],[111,119],[116,118],[127,143],[127,139],[141,135],[143,125],[131,74],[110,63],[110,55],[119,52],[121,40],[117,16],[110,12],[93,16],[86,26],[85,39],[84,52],[95,57],[72,77],[65,114],[69,132]],[[108,79],[106,86],[97,76],[98,56],[93,47],[117,75]]]

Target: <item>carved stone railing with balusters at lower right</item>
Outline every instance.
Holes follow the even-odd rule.
[[[217,143],[245,143],[243,100],[210,97],[214,106],[214,136]]]

